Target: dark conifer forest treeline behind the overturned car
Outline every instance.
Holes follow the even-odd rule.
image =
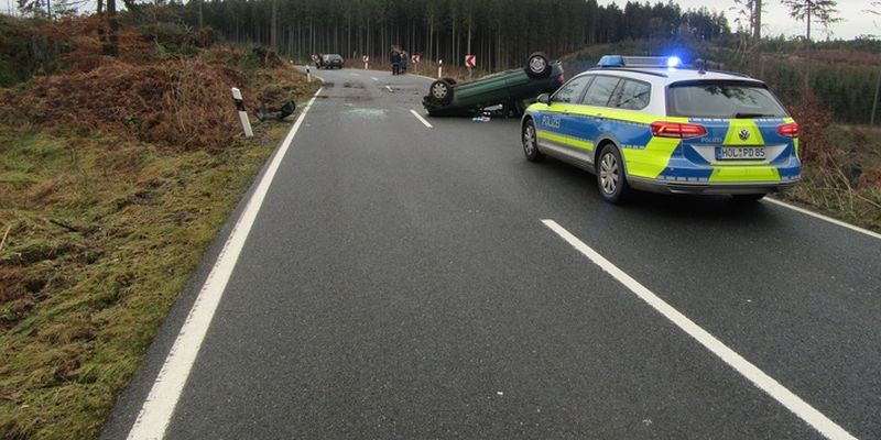
[[[521,64],[535,51],[559,56],[622,40],[730,34],[722,12],[673,2],[621,9],[597,0],[194,0],[185,8],[194,26],[295,58],[339,53],[379,59],[399,45],[456,66],[470,52],[486,70]]]

